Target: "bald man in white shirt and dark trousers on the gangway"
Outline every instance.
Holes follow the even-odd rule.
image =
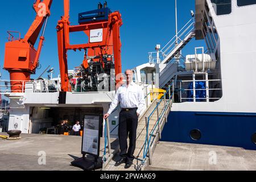
[[[146,102],[141,86],[133,82],[133,71],[127,70],[125,75],[126,84],[118,88],[114,101],[104,118],[108,118],[120,102],[122,110],[119,114],[118,138],[121,160],[115,166],[126,163],[125,168],[130,168],[133,164],[133,154],[136,148],[138,117],[146,109]],[[127,146],[128,135],[130,140],[129,148]]]

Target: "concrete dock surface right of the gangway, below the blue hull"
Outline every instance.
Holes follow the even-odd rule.
[[[256,151],[238,147],[160,142],[147,170],[255,171]]]

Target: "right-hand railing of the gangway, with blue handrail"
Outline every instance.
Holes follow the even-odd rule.
[[[158,140],[162,138],[162,131],[161,127],[163,125],[163,122],[167,123],[167,117],[168,113],[171,111],[172,103],[173,103],[173,88],[174,88],[174,81],[172,81],[171,85],[168,85],[168,89],[166,90],[166,93],[164,93],[164,96],[158,101],[156,100],[156,106],[150,113],[150,115],[145,117],[146,121],[146,138],[143,145],[143,159],[141,160],[141,165],[144,166],[146,164],[146,159],[148,157],[149,164],[152,164],[152,145],[154,144],[154,140],[156,140],[156,137],[158,137]],[[168,96],[168,97],[167,97]],[[163,108],[160,108],[160,106],[163,105]],[[159,111],[162,109],[162,111]],[[150,123],[153,121],[153,116],[157,116],[156,122],[154,124],[154,127],[150,131]],[[156,135],[158,133],[158,135]]]

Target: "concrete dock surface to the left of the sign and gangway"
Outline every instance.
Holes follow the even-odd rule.
[[[7,135],[0,133],[0,135]],[[0,171],[76,171],[71,162],[81,158],[82,137],[63,135],[22,134],[20,140],[0,138]],[[111,140],[112,152],[118,150],[118,140]],[[46,154],[46,165],[39,165],[38,159]],[[41,153],[40,153],[41,152]],[[104,153],[104,139],[101,138],[100,156]]]

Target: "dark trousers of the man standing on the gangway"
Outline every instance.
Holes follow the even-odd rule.
[[[122,110],[119,114],[119,146],[120,156],[127,159],[127,163],[133,162],[134,151],[136,148],[137,139],[137,127],[138,127],[138,115],[137,108],[129,111]],[[129,137],[129,148],[127,146],[127,138]],[[128,151],[127,151],[128,148]]]

